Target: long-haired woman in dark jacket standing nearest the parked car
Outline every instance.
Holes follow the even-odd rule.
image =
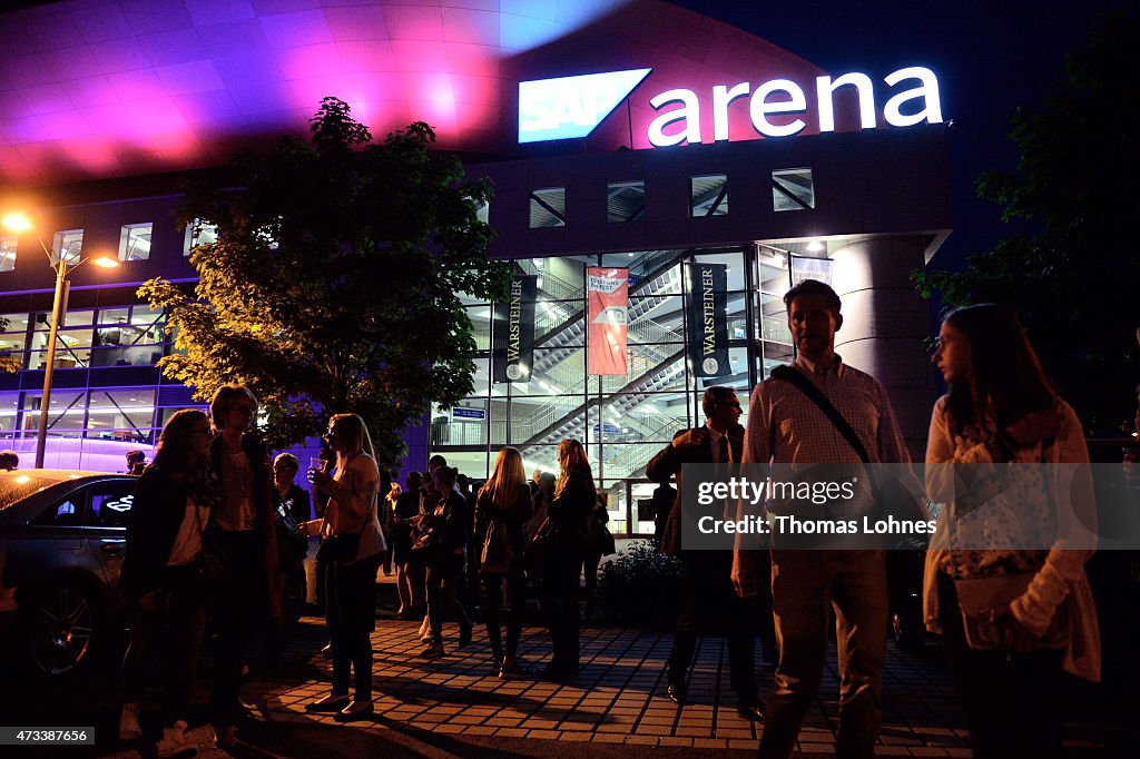
[[[202,533],[221,491],[210,468],[210,419],[182,409],[158,436],[154,463],[135,488],[121,585],[131,625],[123,660],[123,710],[119,737],[141,737],[139,708],[147,672],[163,650],[160,757],[189,749],[187,704],[205,627]],[[164,627],[166,631],[163,632]]]

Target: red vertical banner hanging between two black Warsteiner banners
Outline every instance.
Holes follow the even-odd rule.
[[[629,308],[629,269],[586,269],[586,373],[629,374],[626,312]]]

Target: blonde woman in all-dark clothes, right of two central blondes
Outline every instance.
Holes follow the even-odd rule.
[[[563,682],[578,674],[578,589],[591,509],[597,503],[586,449],[570,438],[559,443],[559,479],[547,519],[549,549],[543,566],[543,609],[554,653],[540,677]]]

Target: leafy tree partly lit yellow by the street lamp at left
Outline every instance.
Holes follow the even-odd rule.
[[[374,144],[348,104],[325,98],[311,132],[235,157],[237,189],[189,191],[179,223],[218,230],[193,250],[198,283],[153,279],[139,296],[168,310],[178,352],[160,366],[195,398],[247,385],[274,447],[359,414],[391,465],[409,423],[472,392],[459,293],[499,299],[508,281],[477,217],[490,187],[430,149],[422,122]]]

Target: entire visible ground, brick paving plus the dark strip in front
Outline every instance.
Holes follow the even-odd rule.
[[[706,636],[690,679],[689,700],[677,707],[665,696],[669,635],[643,630],[583,629],[583,669],[571,683],[556,685],[522,677],[503,682],[492,674],[486,632],[477,626],[473,643],[454,647],[454,626],[446,634],[447,655],[417,658],[418,625],[381,620],[375,648],[375,717],[340,725],[329,716],[309,715],[304,704],[328,689],[331,660],[319,653],[324,627],[306,618],[293,635],[282,666],[271,676],[254,676],[243,697],[259,710],[259,721],[244,728],[242,756],[691,756],[755,754],[763,729],[736,715],[727,683],[727,650]],[[534,671],[549,655],[542,628],[527,628],[520,654]],[[759,667],[762,696],[771,670]],[[879,756],[968,757],[962,712],[936,648],[909,653],[888,643],[883,675],[885,716]],[[201,701],[204,693],[198,693]],[[806,756],[834,752],[838,680],[834,652],[820,697],[800,734]],[[1070,731],[1073,733],[1074,731]],[[1100,733],[1067,742],[1076,756],[1118,756],[1106,751]],[[226,756],[211,743],[209,726],[192,731],[199,756]],[[585,745],[589,743],[589,745]],[[373,746],[373,748],[368,748]],[[1100,750],[1098,750],[1098,746]],[[380,751],[378,754],[375,752]],[[135,751],[101,753],[133,757]]]

